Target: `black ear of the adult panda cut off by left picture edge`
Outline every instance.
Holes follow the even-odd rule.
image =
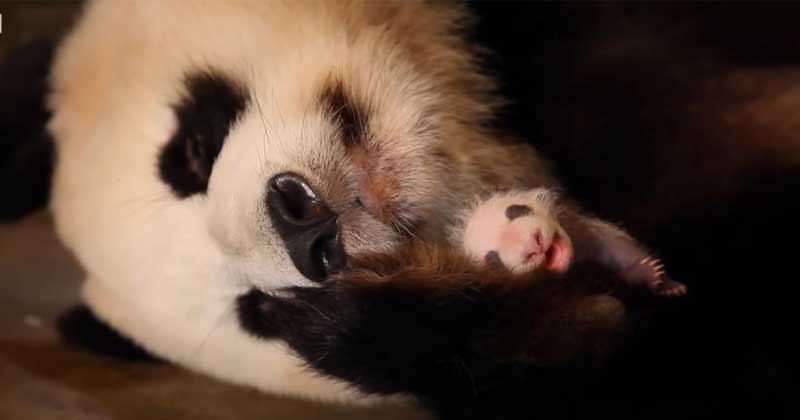
[[[47,204],[55,152],[45,125],[55,43],[37,41],[0,63],[0,222]]]

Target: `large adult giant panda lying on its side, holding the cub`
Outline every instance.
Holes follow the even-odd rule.
[[[543,9],[542,19],[558,23],[544,25],[556,27],[553,36],[564,34],[564,40],[531,42],[570,46],[577,42],[571,38],[573,27],[559,27],[564,9],[553,8],[554,14]],[[606,9],[597,10],[592,9],[597,12],[592,18]],[[535,13],[518,18],[541,23]],[[52,178],[49,185],[32,187],[48,190],[58,234],[87,271],[83,298],[94,316],[148,353],[268,392],[355,403],[420,391],[391,380],[351,377],[348,369],[374,366],[350,358],[357,353],[325,358],[306,344],[320,331],[330,331],[315,329],[319,325],[364,322],[382,313],[380,306],[368,304],[380,299],[350,295],[352,289],[321,281],[348,257],[391,253],[409,239],[443,241],[461,203],[487,189],[559,186],[531,147],[496,129],[493,118],[503,100],[481,67],[483,52],[468,36],[472,19],[464,5],[437,2],[88,2],[49,71],[46,127],[53,148],[48,155],[49,140],[36,137],[41,150],[35,155],[52,159]],[[600,49],[599,59],[592,58],[606,64],[615,52]],[[595,81],[587,75],[589,67],[575,57],[569,60],[571,76]],[[526,134],[543,137],[545,150],[555,156],[577,155],[577,174],[568,172],[569,185],[577,187],[572,191],[585,191],[587,184],[618,175],[615,171],[647,165],[634,157],[623,159],[625,165],[598,169],[583,165],[580,158],[588,159],[581,155],[583,148],[548,145],[557,142],[554,131],[563,128],[561,109],[586,124],[578,134],[564,130],[571,141],[584,139],[584,132],[608,140],[607,132],[616,134],[619,126],[608,125],[607,118],[593,120],[595,114],[572,98],[555,97],[557,84],[548,78],[561,67],[544,67],[532,73],[539,77],[532,85],[552,102],[536,102],[541,108],[534,108],[537,114],[531,118],[552,118],[531,124]],[[601,68],[599,79],[613,82],[609,74],[623,67]],[[601,91],[605,96],[600,98],[618,94],[614,86],[612,93]],[[602,108],[592,98],[578,98],[590,111]],[[644,119],[622,115],[620,126],[634,125],[626,118]],[[627,156],[613,139],[601,143],[601,149],[604,144],[611,146],[606,150],[611,158]],[[611,158],[603,163],[616,162]],[[47,169],[46,160],[43,166]],[[613,189],[617,184],[611,185],[600,189],[608,214],[622,201]],[[21,199],[30,204],[21,208],[31,207],[41,202],[41,194]],[[19,208],[11,213],[22,212]],[[296,223],[280,220],[280,209],[313,217],[313,223],[298,230]],[[254,290],[274,292],[266,302],[263,296],[256,302],[259,308],[284,311],[275,325],[262,326],[274,331],[254,334],[238,313],[252,303],[248,299]],[[386,297],[383,289],[376,293]],[[365,296],[370,302],[360,301]],[[392,304],[386,307],[393,308],[394,296],[388,295]],[[415,294],[400,296],[414,305],[427,302]],[[456,296],[481,301],[469,294]],[[361,315],[346,318],[352,312],[334,311],[343,302]],[[301,306],[310,309],[298,311]],[[391,320],[405,325],[405,318]],[[454,321],[447,320],[451,327]],[[361,324],[347,326],[355,329],[334,331],[362,331]],[[680,330],[668,331],[669,340],[680,336]],[[391,333],[369,337],[380,337],[389,347],[417,343]],[[563,397],[560,392],[570,385],[580,390],[571,397],[581,400],[628,395],[641,380],[630,372],[652,366],[664,373],[667,369],[659,366],[674,366],[669,359],[673,350],[652,353],[655,363],[634,364],[617,378],[626,386],[602,391],[596,388],[604,383],[598,378],[605,371],[579,385],[571,382],[576,376],[570,369],[493,364],[476,356],[461,360],[457,374],[451,365],[444,373],[434,369],[425,374],[429,381],[422,397],[452,418],[633,416],[635,410],[627,405],[631,412],[587,404],[559,413],[560,405],[548,398]],[[651,357],[643,359],[653,362]],[[338,364],[328,366],[329,361]],[[364,372],[375,375],[385,367]],[[397,366],[390,367],[390,373],[396,372]],[[642,388],[646,393],[653,384]],[[662,388],[655,389],[668,397]],[[528,407],[527,398],[534,394],[540,398]],[[672,405],[655,415],[666,418],[686,406]]]

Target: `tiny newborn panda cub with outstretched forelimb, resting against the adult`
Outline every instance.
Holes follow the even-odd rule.
[[[471,257],[515,273],[563,273],[576,259],[596,260],[653,294],[686,293],[686,286],[670,279],[663,264],[625,232],[556,201],[543,188],[496,193],[465,213],[461,245]]]

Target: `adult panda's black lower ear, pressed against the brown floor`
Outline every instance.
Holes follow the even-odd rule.
[[[62,314],[56,328],[61,339],[76,348],[121,360],[160,362],[136,343],[97,319],[85,305],[75,306]]]

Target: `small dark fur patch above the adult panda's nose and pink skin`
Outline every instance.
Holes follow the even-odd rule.
[[[360,104],[348,95],[341,82],[330,82],[320,94],[320,102],[341,131],[345,146],[358,145],[367,131],[368,116]]]

